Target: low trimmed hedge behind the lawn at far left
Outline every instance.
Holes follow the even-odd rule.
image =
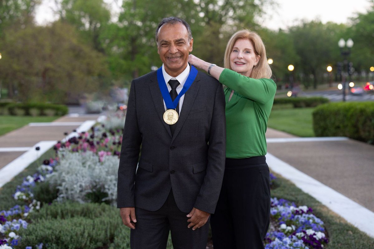
[[[0,103],[0,115],[62,116],[68,113],[65,105],[49,103]]]

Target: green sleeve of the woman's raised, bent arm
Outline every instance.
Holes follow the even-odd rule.
[[[253,79],[227,68],[220,75],[220,83],[261,105],[274,99],[277,88],[272,79]]]

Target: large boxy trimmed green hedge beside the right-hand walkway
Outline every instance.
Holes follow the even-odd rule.
[[[374,144],[374,102],[338,102],[313,112],[318,137],[343,136]]]

